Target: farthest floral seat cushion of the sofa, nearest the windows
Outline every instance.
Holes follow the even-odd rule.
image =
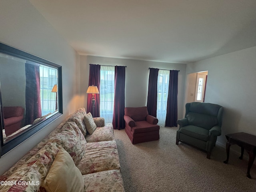
[[[87,142],[111,141],[114,140],[114,131],[112,123],[106,123],[103,127],[97,127],[90,135],[85,136]]]

